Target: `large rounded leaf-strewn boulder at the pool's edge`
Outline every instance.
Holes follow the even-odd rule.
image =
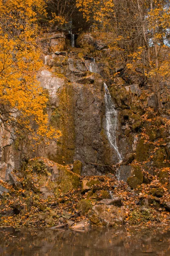
[[[91,209],[88,218],[94,226],[113,227],[123,223],[125,212],[112,205],[100,204]]]

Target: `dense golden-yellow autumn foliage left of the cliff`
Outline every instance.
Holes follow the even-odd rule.
[[[36,39],[43,0],[0,1],[0,127],[16,136],[58,138],[48,125],[48,97],[36,80],[42,66]]]

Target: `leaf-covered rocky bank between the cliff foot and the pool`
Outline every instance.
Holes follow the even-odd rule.
[[[152,176],[137,163],[127,183],[113,174],[81,176],[82,163],[25,160],[0,181],[0,226],[114,227],[170,223],[169,173]],[[111,167],[110,167],[111,168]],[[113,170],[113,166],[112,166]]]

